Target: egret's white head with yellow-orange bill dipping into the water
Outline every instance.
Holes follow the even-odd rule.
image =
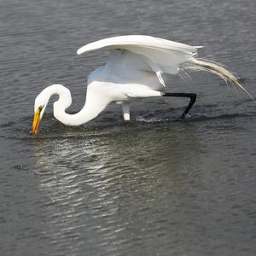
[[[36,98],[34,105],[34,119],[32,123],[32,135],[38,134],[39,125],[43,118],[44,110],[49,102],[49,96],[43,90]]]

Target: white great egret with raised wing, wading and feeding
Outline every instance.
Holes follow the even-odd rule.
[[[96,49],[108,49],[110,53],[106,64],[89,75],[84,108],[79,113],[66,113],[72,103],[70,91],[61,84],[50,85],[35,100],[32,134],[38,133],[40,120],[53,95],[59,96],[53,105],[55,118],[65,125],[81,125],[94,119],[111,102],[122,104],[124,119],[129,120],[131,99],[151,96],[189,97],[189,105],[182,115],[185,117],[196,94],[167,93],[166,83],[173,75],[186,70],[216,73],[245,90],[236,77],[218,63],[195,58],[198,48],[200,46],[139,35],[106,38],[84,45],[78,55]]]

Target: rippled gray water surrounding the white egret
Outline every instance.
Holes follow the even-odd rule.
[[[0,255],[255,255],[256,105],[216,76],[177,79],[186,100],[118,105],[67,127],[52,104],[31,137],[33,102],[49,84],[84,104],[101,38],[147,34],[204,45],[200,56],[239,75],[256,96],[256,2],[35,1],[0,3]],[[54,102],[53,99],[51,102]]]

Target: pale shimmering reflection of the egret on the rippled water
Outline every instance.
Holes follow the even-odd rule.
[[[78,247],[91,253],[117,253],[124,246],[147,251],[150,241],[163,236],[168,244],[177,242],[179,218],[170,216],[182,204],[179,195],[191,192],[190,166],[196,166],[201,150],[192,130],[137,125],[36,141],[35,172],[41,175],[38,189],[48,223],[44,236],[73,253]]]

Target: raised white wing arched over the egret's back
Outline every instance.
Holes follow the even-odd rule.
[[[180,64],[197,54],[199,46],[180,44],[166,39],[131,35],[106,38],[81,47],[78,55],[96,49],[125,49],[141,55],[148,67],[156,73],[160,83],[165,86],[162,73],[177,74]]]

